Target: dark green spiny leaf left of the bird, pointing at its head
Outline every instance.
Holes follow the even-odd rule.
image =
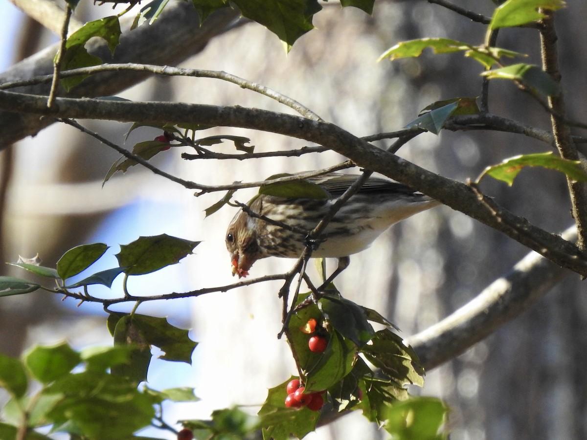
[[[167,234],[141,236],[128,245],[121,245],[116,258],[121,267],[127,268],[124,272],[128,275],[143,275],[176,264],[200,243]]]

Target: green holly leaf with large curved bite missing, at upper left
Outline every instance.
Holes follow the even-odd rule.
[[[95,55],[90,55],[85,48],[87,40],[95,36],[106,40],[110,53],[114,54],[114,49],[118,46],[120,38],[118,17],[114,15],[87,22],[81,28],[77,29],[76,32],[72,33],[66,42],[65,53],[62,56],[62,70],[97,66],[102,63],[102,59]],[[69,91],[87,76],[76,75],[63,78],[61,83]]]

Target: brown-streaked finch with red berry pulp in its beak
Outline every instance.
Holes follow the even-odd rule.
[[[232,275],[236,274],[239,278],[247,276],[257,260],[269,256],[299,258],[305,249],[307,234],[358,177],[331,172],[306,178],[306,181],[322,188],[323,198],[259,194],[249,201],[251,212],[292,226],[295,231],[271,224],[241,209],[228,225],[226,233]],[[371,177],[336,212],[320,235],[312,257],[339,258],[339,262],[346,259],[348,264],[349,255],[369,247],[389,226],[439,204],[437,200],[406,185]]]

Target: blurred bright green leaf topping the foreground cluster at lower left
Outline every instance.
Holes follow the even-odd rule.
[[[34,347],[24,357],[32,376],[42,384],[48,384],[68,374],[80,363],[80,356],[68,344],[52,347]]]

